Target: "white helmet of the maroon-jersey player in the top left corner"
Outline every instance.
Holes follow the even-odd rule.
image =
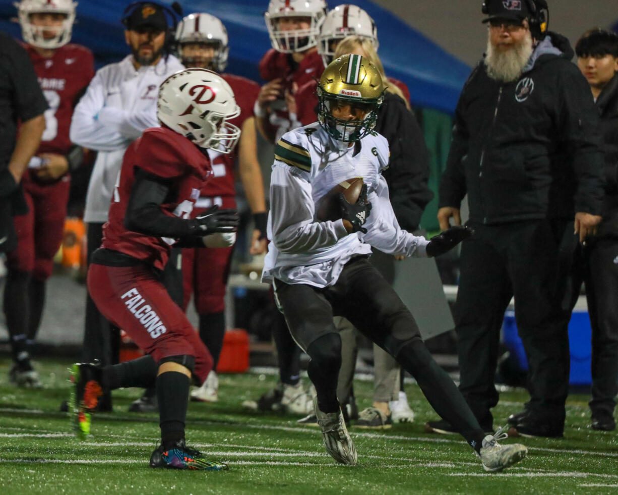
[[[75,22],[75,7],[77,2],[72,0],[22,0],[15,2],[19,24],[22,27],[23,41],[28,45],[39,48],[60,48],[69,43],[73,23]],[[35,26],[30,22],[30,14],[37,12],[51,12],[53,14],[65,14],[67,17],[59,27]],[[56,32],[53,38],[45,39],[43,31]]]

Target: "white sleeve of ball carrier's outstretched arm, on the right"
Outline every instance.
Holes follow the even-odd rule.
[[[426,246],[429,241],[400,228],[392,210],[388,186],[383,176],[379,176],[376,191],[371,191],[367,198],[371,203],[371,214],[364,225],[367,233],[361,237],[363,242],[388,254],[427,256]]]

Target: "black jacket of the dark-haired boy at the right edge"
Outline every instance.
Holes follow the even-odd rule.
[[[599,236],[618,238],[618,74],[596,98],[605,155],[605,197]]]

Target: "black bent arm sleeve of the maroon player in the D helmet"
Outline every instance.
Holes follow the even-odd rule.
[[[175,239],[198,235],[199,227],[195,220],[174,217],[161,209],[172,183],[173,179],[137,168],[124,218],[125,228],[146,235]]]

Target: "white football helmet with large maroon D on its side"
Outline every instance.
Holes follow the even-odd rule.
[[[240,129],[227,121],[239,115],[230,85],[208,69],[176,72],[159,87],[159,121],[200,148],[230,153]]]

